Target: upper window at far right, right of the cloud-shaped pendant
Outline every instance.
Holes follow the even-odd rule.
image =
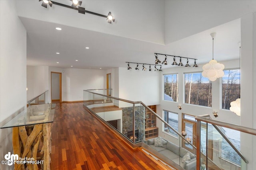
[[[229,109],[230,103],[240,98],[240,69],[224,70],[222,77],[222,109]]]

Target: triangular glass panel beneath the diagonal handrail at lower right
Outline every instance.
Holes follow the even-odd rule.
[[[201,141],[202,140],[201,138]],[[210,123],[207,125],[207,146],[207,167],[210,168],[210,162],[214,162],[216,166],[223,170],[241,169],[240,155],[238,155],[228,141],[226,141],[220,132]],[[236,147],[239,146],[240,144]]]

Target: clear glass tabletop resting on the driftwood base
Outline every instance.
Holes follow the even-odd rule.
[[[51,123],[54,119],[55,106],[56,104],[30,105],[4,124],[1,129],[8,127],[36,125],[40,123]]]

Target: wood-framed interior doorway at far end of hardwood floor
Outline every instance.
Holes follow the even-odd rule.
[[[51,100],[52,103],[62,102],[62,74],[51,72]]]

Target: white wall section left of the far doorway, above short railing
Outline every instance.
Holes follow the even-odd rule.
[[[48,90],[48,66],[27,66],[27,101]]]

